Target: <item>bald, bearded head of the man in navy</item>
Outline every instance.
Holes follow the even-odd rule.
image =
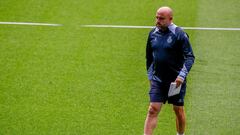
[[[160,7],[156,13],[156,26],[162,30],[166,30],[172,23],[173,11],[170,7]]]

